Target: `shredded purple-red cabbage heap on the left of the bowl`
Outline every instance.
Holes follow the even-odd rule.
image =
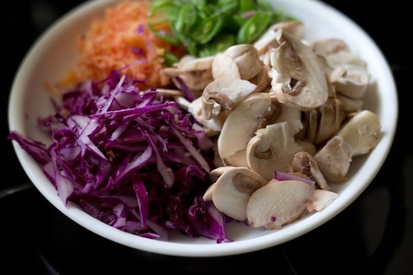
[[[9,135],[43,166],[63,203],[76,203],[109,225],[151,239],[171,230],[232,241],[225,215],[202,195],[211,184],[213,143],[189,113],[156,89],[140,91],[113,72],[79,83],[39,120],[49,146]]]

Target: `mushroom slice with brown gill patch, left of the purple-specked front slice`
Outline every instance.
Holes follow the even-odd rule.
[[[246,204],[268,181],[246,167],[226,170],[213,184],[212,201],[218,210],[237,221],[246,220]]]

